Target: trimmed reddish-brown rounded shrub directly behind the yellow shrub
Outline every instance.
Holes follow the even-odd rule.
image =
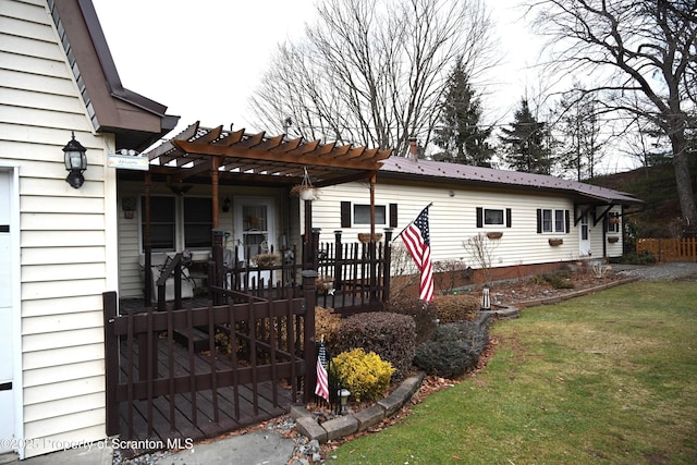
[[[416,323],[408,315],[374,311],[352,315],[342,321],[334,353],[363,348],[392,364],[393,380],[412,369],[416,347]]]

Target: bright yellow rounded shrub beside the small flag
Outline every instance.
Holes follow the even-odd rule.
[[[356,402],[380,399],[390,387],[394,368],[375,352],[354,348],[333,358],[333,370]]]

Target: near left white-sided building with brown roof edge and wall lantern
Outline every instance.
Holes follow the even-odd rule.
[[[0,75],[0,453],[24,458],[105,438],[102,293],[119,280],[107,154],[145,149],[178,118],[123,88],[89,1],[1,2]]]

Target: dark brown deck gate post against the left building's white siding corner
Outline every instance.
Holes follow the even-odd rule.
[[[119,402],[117,402],[117,384],[119,384],[119,338],[113,333],[117,318],[117,293],[101,294],[105,318],[105,383],[106,383],[106,423],[107,436],[119,433]]]

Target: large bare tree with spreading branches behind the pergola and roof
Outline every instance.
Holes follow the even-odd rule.
[[[494,64],[491,30],[484,0],[325,0],[253,108],[271,130],[405,155],[409,136],[430,139],[457,58],[473,81]]]

